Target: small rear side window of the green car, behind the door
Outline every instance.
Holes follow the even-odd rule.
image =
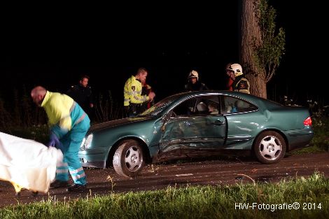
[[[221,112],[223,114],[228,113],[244,113],[257,110],[257,106],[248,103],[247,101],[237,99],[235,97],[223,96],[223,104],[221,106]]]

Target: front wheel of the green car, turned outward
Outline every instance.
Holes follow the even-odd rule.
[[[143,148],[138,141],[123,141],[113,156],[113,167],[120,176],[137,176],[145,165]]]

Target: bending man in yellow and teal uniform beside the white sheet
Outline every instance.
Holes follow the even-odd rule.
[[[48,115],[50,142],[47,146],[56,146],[64,155],[63,162],[57,164],[56,180],[50,184],[50,188],[67,188],[70,173],[74,183],[67,190],[84,191],[87,181],[78,152],[90,127],[88,115],[71,97],[49,92],[41,86],[31,90],[31,97],[34,103],[43,107]]]

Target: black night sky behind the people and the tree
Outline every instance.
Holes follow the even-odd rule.
[[[329,104],[323,93],[328,71],[323,7],[270,3],[277,10],[277,26],[286,31],[286,55],[267,85],[269,99],[288,94],[297,102],[311,98]],[[65,92],[87,74],[94,94],[111,90],[123,101],[125,80],[141,66],[149,71],[156,101],[183,91],[191,69],[209,88],[224,90],[225,64],[239,62],[237,11],[237,1],[230,1],[221,6],[65,8],[22,17],[18,12],[1,29],[0,97],[10,101],[13,87],[22,90],[23,85]]]

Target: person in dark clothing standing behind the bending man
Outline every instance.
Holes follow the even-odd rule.
[[[92,100],[92,89],[88,86],[89,76],[83,75],[80,77],[80,81],[78,85],[73,85],[66,92],[74,101],[76,101],[83,111],[87,113],[87,115],[92,118],[92,110],[94,108],[93,100]]]

